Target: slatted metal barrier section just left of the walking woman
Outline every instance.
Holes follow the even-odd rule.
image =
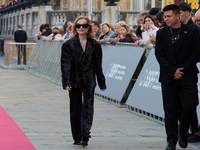
[[[62,43],[38,40],[25,69],[36,76],[61,84],[60,57]]]

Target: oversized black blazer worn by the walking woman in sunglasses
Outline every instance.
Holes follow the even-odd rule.
[[[62,45],[61,71],[63,89],[94,88],[96,77],[101,89],[106,88],[105,77],[102,73],[101,44],[94,39],[87,38],[85,53],[76,36]]]

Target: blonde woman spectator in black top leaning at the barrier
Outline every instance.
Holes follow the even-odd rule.
[[[122,25],[120,28],[120,34],[122,35],[122,38],[119,40],[119,42],[134,43],[134,40],[131,37],[132,35],[129,26]]]

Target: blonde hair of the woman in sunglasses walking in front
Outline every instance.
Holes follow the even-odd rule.
[[[72,34],[72,38],[77,36],[77,32],[76,32],[76,24],[77,22],[80,20],[80,19],[85,19],[87,21],[87,24],[89,25],[89,30],[88,30],[88,34],[87,34],[87,37],[88,38],[91,38],[93,39],[94,38],[94,32],[93,32],[93,28],[92,28],[92,24],[90,22],[90,19],[88,17],[85,17],[85,16],[80,16],[78,17],[75,21],[74,21],[74,24],[72,26],[72,31],[71,31],[71,34]]]

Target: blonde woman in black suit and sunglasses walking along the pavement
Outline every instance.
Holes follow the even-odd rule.
[[[72,38],[62,45],[61,71],[63,89],[69,90],[74,145],[87,146],[93,121],[96,76],[100,89],[106,89],[101,44],[94,40],[93,28],[87,17],[76,19]]]

